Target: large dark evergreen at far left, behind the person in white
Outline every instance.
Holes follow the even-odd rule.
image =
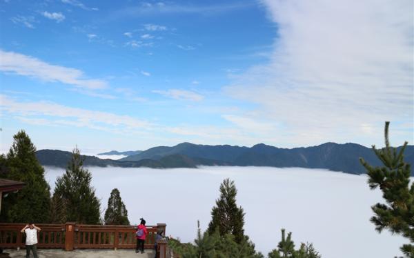
[[[36,159],[36,147],[24,130],[17,132],[7,157],[1,157],[0,177],[26,183],[19,192],[3,198],[0,221],[47,223],[50,210],[50,186],[44,169]]]

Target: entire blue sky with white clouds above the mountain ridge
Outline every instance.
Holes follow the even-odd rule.
[[[0,0],[0,140],[414,142],[411,0]]]

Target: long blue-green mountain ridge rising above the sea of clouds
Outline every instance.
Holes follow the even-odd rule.
[[[400,149],[399,147],[398,149]],[[407,146],[404,160],[414,164],[414,146]],[[39,150],[36,153],[43,166],[66,168],[71,152]],[[197,166],[270,166],[277,168],[325,168],[351,174],[362,174],[359,163],[363,157],[372,166],[381,166],[371,148],[356,143],[323,143],[302,148],[277,148],[259,143],[251,148],[244,146],[209,146],[179,143],[177,146],[159,146],[144,150],[123,159],[99,159],[83,156],[85,166],[119,166],[149,168],[196,168]],[[411,175],[414,176],[413,169]]]

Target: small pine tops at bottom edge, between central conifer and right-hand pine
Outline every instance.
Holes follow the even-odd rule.
[[[301,244],[299,250],[295,250],[295,243],[292,240],[292,232],[285,236],[282,229],[282,241],[277,244],[277,249],[273,249],[268,254],[269,258],[321,258],[319,252],[315,250],[313,244]]]

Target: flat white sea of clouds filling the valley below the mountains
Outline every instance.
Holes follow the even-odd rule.
[[[382,197],[369,190],[365,176],[301,168],[89,170],[102,208],[112,188],[118,188],[132,224],[140,217],[148,224],[166,223],[167,234],[182,241],[193,241],[197,219],[206,229],[219,184],[230,177],[237,186],[237,203],[246,212],[246,234],[266,255],[280,241],[281,228],[293,232],[297,245],[313,242],[323,257],[394,257],[405,242],[388,232],[375,232],[370,207]],[[46,168],[52,188],[62,173]]]

